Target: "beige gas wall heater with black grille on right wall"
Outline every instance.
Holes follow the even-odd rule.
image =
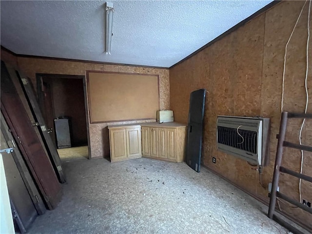
[[[269,161],[270,118],[218,116],[218,150],[259,166]]]

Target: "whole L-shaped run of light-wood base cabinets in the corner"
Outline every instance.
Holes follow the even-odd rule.
[[[141,123],[108,126],[111,161],[146,156],[171,162],[185,157],[187,126],[169,123]]]

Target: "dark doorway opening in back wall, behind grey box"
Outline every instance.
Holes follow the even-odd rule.
[[[58,118],[69,119],[71,147],[88,145],[84,76],[37,74],[37,84],[39,105],[56,147]]]

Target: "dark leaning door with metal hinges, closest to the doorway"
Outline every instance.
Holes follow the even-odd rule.
[[[20,94],[20,98],[26,99],[25,102],[27,103],[24,103],[24,106],[27,105],[27,108],[30,109],[29,112],[31,112],[28,114],[28,117],[33,118],[33,122],[36,122],[36,126],[34,126],[34,129],[39,133],[40,137],[42,138],[43,144],[46,148],[47,154],[50,157],[54,171],[58,176],[59,182],[64,183],[66,180],[64,172],[62,170],[61,160],[59,158],[57,149],[50,137],[51,134],[53,135],[53,133],[45,125],[44,119],[39,109],[39,104],[31,86],[31,82],[19,71],[15,71],[10,66],[6,67],[18,93]]]

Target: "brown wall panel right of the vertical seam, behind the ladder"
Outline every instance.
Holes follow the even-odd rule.
[[[285,45],[289,39],[294,23],[301,11],[303,1],[293,3],[284,2],[278,7],[273,8],[266,14],[265,21],[265,40],[264,40],[264,58],[263,58],[263,76],[262,76],[262,115],[271,117],[271,156],[275,155],[281,111],[281,93],[282,93],[282,77],[285,55]],[[306,44],[307,44],[307,18],[308,18],[307,2],[302,15],[295,28],[292,39],[287,48],[286,70],[285,70],[285,87],[284,87],[284,105],[283,110],[289,112],[304,112],[306,104],[306,92],[304,88],[304,79],[306,75]],[[312,19],[310,21],[310,27]],[[311,31],[311,28],[310,28]],[[310,38],[311,51],[312,39]],[[311,55],[311,53],[310,53]],[[310,56],[309,55],[309,56]],[[310,59],[311,64],[311,59]],[[312,66],[309,65],[308,70],[308,88],[309,90],[309,106],[308,112],[312,113]],[[275,81],[275,82],[273,82]],[[277,94],[277,95],[276,95]],[[286,140],[299,143],[299,131],[302,119],[290,119],[288,121]],[[272,131],[273,130],[273,131]],[[302,130],[302,143],[312,145],[312,119],[306,120]],[[291,148],[284,148],[284,157],[282,165],[300,172],[301,152]],[[305,175],[312,176],[312,153],[304,152],[303,171]],[[266,168],[264,179],[271,180],[273,170]],[[299,201],[299,179],[281,174],[279,180],[280,191],[285,195]],[[301,183],[302,199],[312,200],[312,184],[307,181]],[[262,194],[264,195],[264,193]],[[302,211],[301,209],[293,209],[289,206],[281,204],[284,212],[300,219],[305,217],[309,220],[312,229],[312,215]],[[308,223],[308,222],[306,222]]]

